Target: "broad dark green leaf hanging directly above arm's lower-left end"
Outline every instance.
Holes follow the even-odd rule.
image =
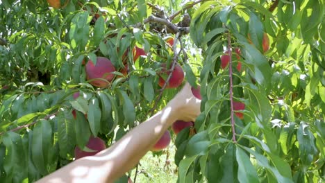
[[[42,175],[47,175],[48,155],[51,145],[52,127],[49,121],[41,119],[33,129],[32,159]]]

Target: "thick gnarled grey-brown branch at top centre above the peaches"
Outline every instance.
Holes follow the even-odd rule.
[[[190,33],[190,27],[178,27],[175,24],[173,24],[171,21],[168,21],[167,19],[162,19],[159,17],[155,17],[153,15],[150,15],[147,19],[144,19],[143,24],[148,24],[150,22],[163,24],[163,25],[167,26],[167,28],[169,28],[172,31],[172,33],[174,33],[174,34],[176,34],[178,32],[181,32],[181,35]],[[137,27],[137,28],[139,28],[140,26],[142,26],[141,22],[134,25],[134,27]]]

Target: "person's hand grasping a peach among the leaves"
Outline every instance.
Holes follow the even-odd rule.
[[[188,82],[185,83],[176,96],[169,101],[168,107],[172,107],[178,120],[195,121],[200,111],[201,100],[196,98],[191,91],[191,86]]]

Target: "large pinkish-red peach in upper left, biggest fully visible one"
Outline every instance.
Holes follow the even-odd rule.
[[[113,80],[115,67],[107,58],[97,57],[97,63],[94,65],[92,60],[89,60],[85,67],[86,78],[90,81],[90,84],[95,87],[107,87],[109,82]],[[106,79],[108,82],[103,80],[94,80],[98,78]]]

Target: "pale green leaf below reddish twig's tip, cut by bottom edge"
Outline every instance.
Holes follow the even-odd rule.
[[[238,162],[238,180],[240,182],[259,182],[256,169],[251,164],[249,156],[241,148],[236,148]]]

